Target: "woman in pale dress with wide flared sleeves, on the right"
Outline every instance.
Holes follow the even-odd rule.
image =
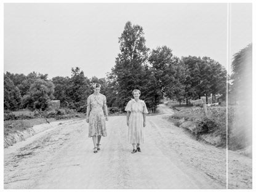
[[[140,90],[132,91],[132,98],[126,105],[128,142],[132,143],[134,150],[132,153],[141,152],[140,143],[144,143],[144,127],[146,126],[146,114],[148,109],[143,100],[140,100]]]

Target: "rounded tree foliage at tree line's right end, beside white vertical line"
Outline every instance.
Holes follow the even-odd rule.
[[[185,97],[206,98],[212,94],[225,94],[226,92],[226,70],[220,63],[209,57],[182,57],[185,63]]]

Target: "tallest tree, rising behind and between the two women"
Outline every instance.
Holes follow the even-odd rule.
[[[116,58],[116,65],[112,68],[110,77],[116,79],[118,100],[117,105],[124,109],[132,96],[133,89],[142,89],[145,70],[143,65],[148,57],[143,28],[127,22],[119,38],[120,53]]]

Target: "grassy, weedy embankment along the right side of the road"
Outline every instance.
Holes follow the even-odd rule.
[[[248,135],[243,130],[234,130],[234,115],[236,106],[228,107],[228,126],[226,127],[226,106],[207,107],[207,116],[204,116],[201,107],[169,104],[175,114],[169,117],[175,126],[190,130],[198,140],[218,147],[226,147],[226,128],[228,128],[228,149],[238,150],[242,154],[251,156]],[[241,118],[242,121],[242,118]],[[241,123],[242,124],[242,123]],[[242,124],[242,127],[246,125]],[[249,150],[248,150],[249,148]]]

